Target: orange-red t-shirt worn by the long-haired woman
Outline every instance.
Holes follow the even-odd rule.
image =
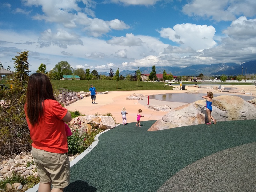
[[[68,152],[65,124],[62,121],[67,112],[68,110],[56,100],[44,100],[44,116],[39,124],[32,126],[29,122],[25,105],[26,119],[34,148],[52,153]]]

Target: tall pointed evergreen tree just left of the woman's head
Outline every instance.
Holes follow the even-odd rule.
[[[27,84],[28,82],[28,75],[29,75],[29,63],[28,63],[28,52],[24,51],[22,53],[18,53],[19,55],[16,55],[15,58],[12,58],[14,60],[14,67],[16,68],[14,79],[19,79],[22,86]]]

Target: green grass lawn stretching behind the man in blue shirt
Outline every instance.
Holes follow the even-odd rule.
[[[51,80],[53,85],[58,89],[59,88],[59,80]],[[218,86],[222,85],[221,82],[182,82],[182,85],[194,85],[197,83],[197,85],[212,85],[212,86]],[[118,81],[118,89],[116,86],[115,80],[90,80],[89,85],[93,84],[93,86],[97,89],[98,92],[103,91],[131,91],[131,90],[171,90],[173,87],[165,85],[164,82],[138,82],[137,87],[137,81],[127,81],[127,80],[120,80]],[[168,84],[168,83],[166,83]],[[254,85],[254,83],[225,83],[224,85]],[[174,86],[179,86],[180,82],[178,83],[172,83]],[[88,92],[88,81],[87,80],[63,80],[60,81],[60,88],[72,90],[72,91],[84,91]]]

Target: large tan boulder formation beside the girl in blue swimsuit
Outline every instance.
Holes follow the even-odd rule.
[[[156,121],[148,131],[169,129],[208,122],[205,99],[173,109]],[[212,116],[218,121],[256,119],[255,100],[246,102],[238,96],[221,95],[213,98]],[[207,119],[207,120],[206,120]]]

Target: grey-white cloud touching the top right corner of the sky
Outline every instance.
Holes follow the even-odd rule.
[[[192,0],[183,6],[182,12],[195,17],[207,17],[216,21],[232,21],[236,16],[255,15],[254,0]]]

